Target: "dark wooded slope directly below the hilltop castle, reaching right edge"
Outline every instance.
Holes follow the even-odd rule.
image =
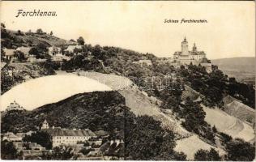
[[[213,70],[207,73],[203,66],[190,64],[188,69],[182,68],[179,72],[192,88],[206,96],[204,104],[207,106],[222,106],[226,95],[241,100],[244,104],[254,109],[254,87],[250,84],[237,83],[235,79],[229,79],[221,70]]]

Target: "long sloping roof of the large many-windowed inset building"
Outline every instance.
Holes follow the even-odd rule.
[[[92,130],[68,130],[62,128],[49,128],[45,130],[51,136],[96,136]]]

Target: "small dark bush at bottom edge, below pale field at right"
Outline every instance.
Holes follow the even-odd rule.
[[[220,155],[215,149],[211,148],[210,151],[200,149],[194,154],[196,161],[220,161]]]

